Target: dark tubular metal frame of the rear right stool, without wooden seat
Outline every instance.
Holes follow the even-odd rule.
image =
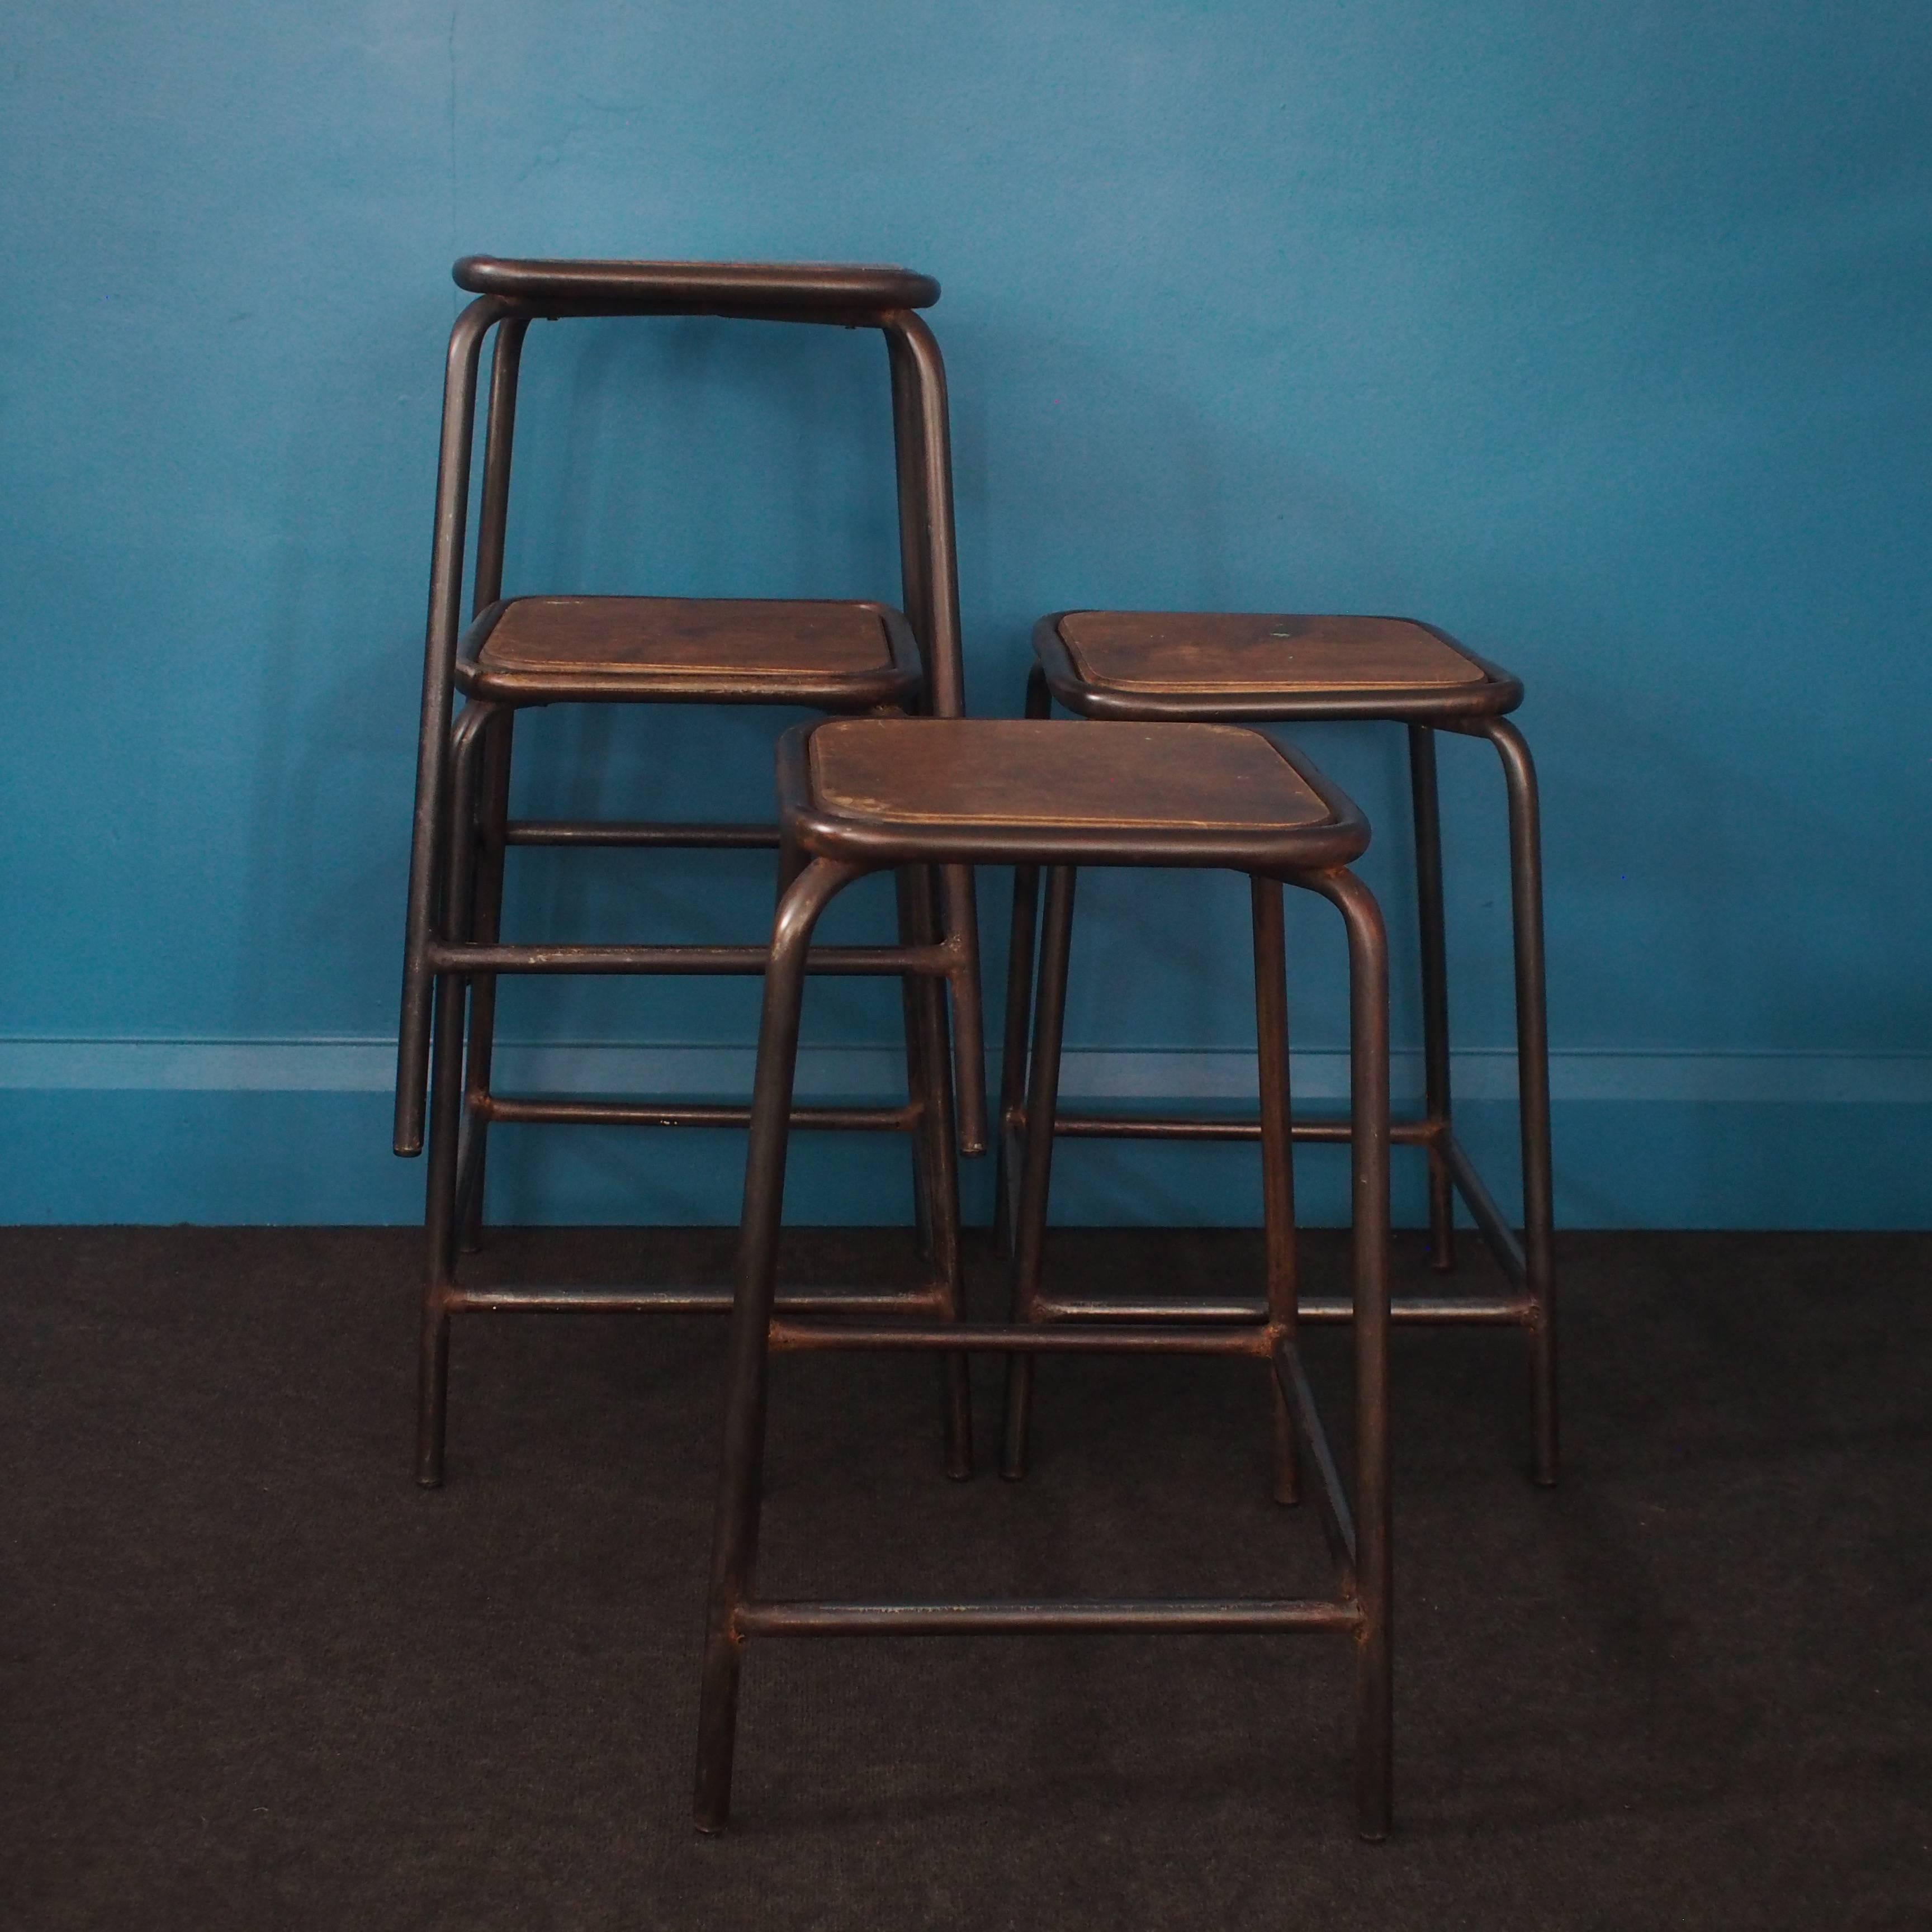
[[[1349,703],[1316,696],[1289,699],[1275,694],[1206,697],[1198,692],[1097,692],[1078,680],[1059,639],[1059,618],[1041,618],[1034,628],[1034,649],[1041,659],[1028,672],[1026,715],[1049,717],[1055,697],[1076,715],[1097,719],[1167,719],[1192,723],[1262,724],[1310,723],[1329,719],[1385,719],[1408,726],[1410,806],[1416,840],[1416,910],[1422,952],[1422,1065],[1424,1105],[1418,1119],[1395,1121],[1395,1146],[1422,1148],[1430,1173],[1430,1262],[1437,1271],[1455,1267],[1455,1196],[1461,1194],[1486,1246],[1509,1279],[1507,1294],[1399,1294],[1391,1302],[1395,1321],[1463,1323],[1520,1327],[1528,1341],[1530,1383],[1530,1478],[1542,1486],[1557,1480],[1557,1362],[1555,1362],[1555,1244],[1549,1155],[1549,1024],[1544,995],[1544,885],[1542,821],[1536,767],[1522,734],[1499,715],[1522,697],[1522,686],[1507,672],[1463,651],[1486,672],[1486,682],[1457,688],[1451,696],[1378,694]],[[1424,626],[1428,628],[1428,626]],[[1522,1138],[1522,1233],[1509,1225],[1495,1196],[1484,1184],[1463,1144],[1455,1136],[1449,1092],[1449,968],[1443,918],[1441,813],[1435,784],[1435,732],[1451,730],[1486,738],[1503,765],[1509,810],[1511,929],[1515,945],[1517,995],[1517,1092]],[[1016,1161],[1034,1159],[1034,1101],[1028,1088],[1026,1028],[1032,1001],[1032,962],[1039,922],[1039,871],[1014,869],[1012,951],[1007,968],[1007,1030],[1001,1053],[997,1225],[1001,1244],[1014,1244],[1012,1182]],[[1256,906],[1256,958],[1264,947],[1262,910]],[[1057,972],[1065,981],[1066,958]],[[1039,997],[1049,997],[1041,978]],[[1053,997],[1065,999],[1061,985]],[[1200,1119],[1163,1113],[1059,1113],[1051,1111],[1051,1132],[1068,1140],[1262,1140],[1264,1159],[1269,1122],[1240,1119]],[[1300,1119],[1289,1128],[1293,1140],[1347,1142],[1356,1132],[1350,1119]],[[1055,1300],[1039,1296],[1032,1304],[1036,1321],[1252,1321],[1258,1306],[1227,1302],[1107,1302]],[[1302,1296],[1304,1321],[1350,1321],[1352,1300]],[[1009,1408],[1009,1455],[1005,1474],[1024,1466],[1026,1374],[1016,1374]],[[1018,1443],[1018,1455],[1014,1455]]]

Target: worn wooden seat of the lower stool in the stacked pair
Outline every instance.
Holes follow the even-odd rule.
[[[514,597],[464,639],[468,696],[663,703],[910,705],[920,649],[879,603],[744,597]]]

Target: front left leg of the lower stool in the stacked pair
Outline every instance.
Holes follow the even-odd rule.
[[[475,835],[477,746],[493,705],[466,705],[450,732],[450,823],[444,827],[442,929],[469,929],[471,848]],[[423,1323],[415,1381],[415,1480],[425,1490],[442,1482],[442,1439],[450,1387],[448,1291],[456,1283],[458,1155],[464,1115],[464,980],[435,981],[435,1059],[429,1082],[429,1171],[423,1177]]]

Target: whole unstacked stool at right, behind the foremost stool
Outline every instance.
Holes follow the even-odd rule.
[[[1424,1109],[1397,1121],[1391,1138],[1420,1146],[1430,1163],[1430,1260],[1455,1265],[1459,1192],[1509,1293],[1401,1294],[1397,1321],[1520,1327],[1530,1354],[1530,1474],[1557,1480],[1555,1258],[1549,1182],[1549,1028],[1544,1007],[1544,883],[1536,767],[1505,721],[1522,701],[1520,680],[1466,651],[1430,624],[1389,616],[1204,616],[1150,611],[1061,611],[1034,626],[1037,663],[1026,715],[1047,717],[1053,699],[1090,719],[1285,724],[1389,719],[1408,726],[1416,827],[1416,902],[1422,923]],[[1509,796],[1509,871],[1517,954],[1517,1092],[1522,1130],[1522,1236],[1484,1186],[1449,1113],[1449,976],[1443,941],[1441,821],[1435,798],[1435,732],[1488,738],[1503,761]],[[1007,1039],[999,1094],[999,1223],[1010,1240],[1010,1171],[1030,1134],[1026,1018],[1032,983],[1037,869],[1014,875]],[[1065,978],[1065,952],[1057,972]],[[1063,995],[1055,995],[1063,997]],[[1061,1113],[1053,1132],[1084,1140],[1256,1140],[1254,1121],[1134,1113]],[[1343,1121],[1296,1121],[1294,1140],[1347,1140]],[[1107,1308],[1037,1302],[1036,1320],[1105,1318]],[[1302,1302],[1302,1320],[1347,1321],[1347,1300]],[[1007,1474],[1020,1474],[1026,1387],[1009,1414]]]

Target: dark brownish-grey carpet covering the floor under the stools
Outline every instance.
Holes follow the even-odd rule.
[[[1308,1248],[1337,1283],[1337,1238]],[[1314,1636],[753,1648],[738,1822],[696,1839],[723,1327],[468,1318],[419,1493],[415,1252],[0,1235],[8,1926],[1932,1924],[1924,1236],[1569,1236],[1553,1495],[1519,1474],[1515,1337],[1399,1337],[1381,1847]],[[1051,1260],[1130,1285],[1254,1252]],[[491,1265],[535,1256],[717,1279],[728,1236],[506,1235]],[[792,1273],[904,1260],[815,1235]],[[1310,1352],[1347,1449],[1345,1337]],[[1047,1360],[1018,1488],[995,1364],[980,1478],[943,1480],[933,1374],[779,1364],[769,1590],[1320,1582],[1250,1366]]]

